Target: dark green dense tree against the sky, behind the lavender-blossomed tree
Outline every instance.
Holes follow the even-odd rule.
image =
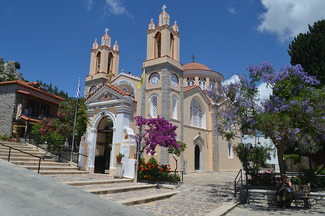
[[[289,45],[291,65],[300,64],[311,76],[325,84],[325,20],[308,25],[309,32],[300,33]]]

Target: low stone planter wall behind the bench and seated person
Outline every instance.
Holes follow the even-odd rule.
[[[276,191],[274,190],[256,190],[251,189],[248,190],[249,193],[249,202],[255,204],[264,204],[264,205],[277,205],[276,202],[272,200],[275,197]],[[246,203],[246,190],[241,189],[241,200]],[[296,197],[304,196],[303,193],[296,193]],[[325,192],[310,192],[308,196],[311,197],[309,200],[309,205],[318,206],[318,207],[325,207]],[[304,206],[303,200],[294,200],[291,206]]]

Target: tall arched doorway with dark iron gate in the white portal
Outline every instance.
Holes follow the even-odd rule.
[[[110,156],[113,142],[113,120],[104,116],[97,127],[94,173],[105,173],[110,168]]]

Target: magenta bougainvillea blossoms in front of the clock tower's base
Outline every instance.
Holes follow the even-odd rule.
[[[140,151],[139,156],[142,155],[144,150],[147,154],[154,155],[156,147],[180,149],[180,145],[176,141],[176,129],[177,126],[172,125],[164,117],[158,115],[157,118],[144,118],[141,116],[135,117],[136,126],[144,129],[144,132],[140,135]],[[139,134],[135,136],[136,143],[139,144]]]

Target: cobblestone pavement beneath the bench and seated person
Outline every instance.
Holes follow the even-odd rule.
[[[296,207],[291,206],[290,208],[281,209],[276,206],[265,206],[265,205],[245,205],[240,204],[233,210],[231,210],[227,216],[237,215],[251,215],[251,216],[268,216],[268,215],[295,215],[295,216],[306,216],[306,215],[325,215],[324,207],[311,207],[305,208],[302,206]]]

